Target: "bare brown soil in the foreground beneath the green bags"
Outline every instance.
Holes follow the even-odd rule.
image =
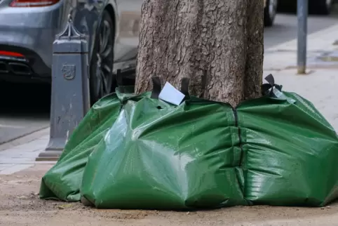
[[[0,175],[0,225],[338,225],[338,204],[325,208],[238,206],[215,211],[97,210],[80,203],[39,199],[42,175],[50,165],[36,165]]]

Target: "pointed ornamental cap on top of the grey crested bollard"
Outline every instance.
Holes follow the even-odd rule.
[[[86,35],[74,27],[72,15],[68,15],[65,29],[55,36],[54,53],[88,53]]]

